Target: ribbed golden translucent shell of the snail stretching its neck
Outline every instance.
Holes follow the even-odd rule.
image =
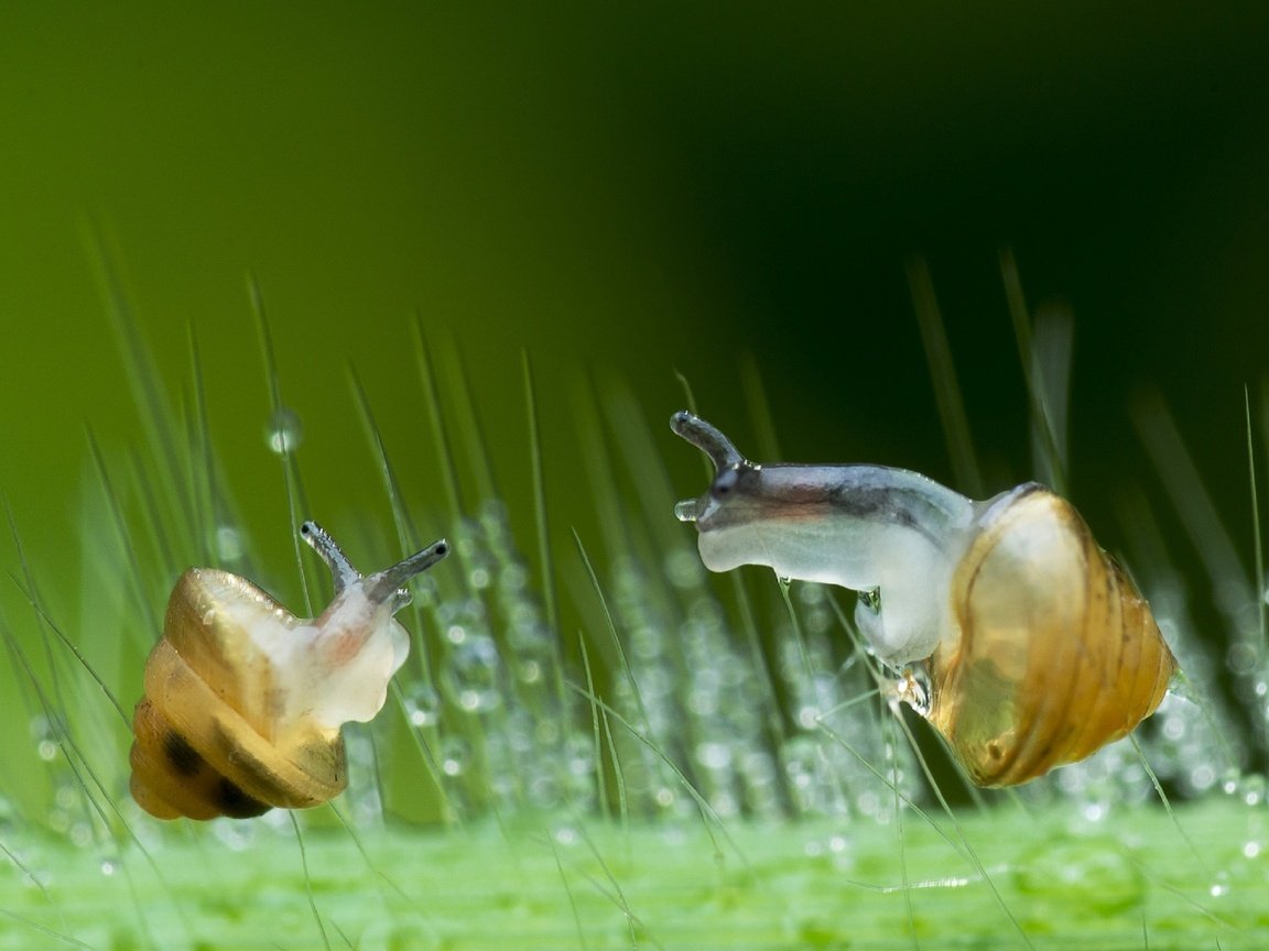
[[[1176,671],[1150,606],[1070,502],[986,505],[952,577],[959,639],[929,661],[929,719],[971,779],[1013,786],[1127,735]]]

